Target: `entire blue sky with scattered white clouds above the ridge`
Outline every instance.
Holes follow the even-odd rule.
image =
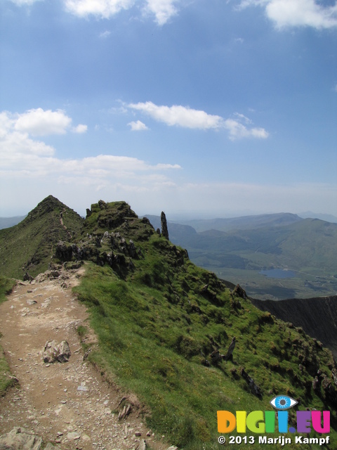
[[[1,0],[0,216],[337,216],[333,0]]]

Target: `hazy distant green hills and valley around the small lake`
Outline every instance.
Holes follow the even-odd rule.
[[[337,224],[293,214],[263,215],[251,221],[244,217],[242,221],[233,219],[231,224],[231,219],[215,219],[201,224],[224,228],[223,220],[227,227],[235,224],[246,228],[197,233],[191,226],[169,221],[169,236],[187,248],[195,264],[242,284],[251,297],[279,300],[337,293]],[[266,222],[271,225],[263,226]],[[275,278],[271,269],[288,272],[284,272],[285,278]],[[268,276],[260,271],[267,271]],[[278,274],[282,277],[282,272]],[[289,275],[291,278],[286,278]]]

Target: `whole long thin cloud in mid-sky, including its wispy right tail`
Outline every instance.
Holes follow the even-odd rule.
[[[203,110],[194,110],[182,105],[155,105],[151,101],[145,103],[129,103],[128,108],[150,115],[157,122],[164,122],[170,127],[177,126],[190,129],[227,129],[230,139],[259,138],[268,136],[263,128],[252,127],[252,121],[243,114],[234,113],[235,119],[223,119],[219,115],[211,115]]]

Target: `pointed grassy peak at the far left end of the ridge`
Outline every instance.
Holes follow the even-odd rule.
[[[0,275],[23,278],[48,268],[58,240],[72,240],[83,219],[49,195],[20,224],[0,230]]]

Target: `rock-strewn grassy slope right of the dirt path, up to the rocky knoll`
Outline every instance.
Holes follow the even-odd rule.
[[[289,328],[249,300],[233,296],[216,276],[194,266],[182,249],[131,214],[127,205],[108,204],[106,210],[94,205],[92,211],[84,234],[102,237],[110,214],[117,219],[109,231],[119,231],[126,243],[132,239],[143,256],[133,259],[134,269],[88,266],[77,293],[88,305],[100,338],[99,350],[90,357],[150,406],[147,420],[152,428],[180,448],[216,449],[217,410],[270,410],[272,397],[288,394],[300,399],[299,409],[330,407],[331,449],[336,448],[336,408],[324,390],[319,395],[312,390],[318,368],[331,377],[328,350],[300,328]],[[103,254],[110,250],[107,242],[100,248]],[[201,294],[206,283],[208,293]],[[225,353],[234,335],[233,361],[204,366],[201,352],[210,359],[216,341]],[[260,386],[262,399],[251,394],[241,368]],[[291,417],[294,414],[292,409]]]

